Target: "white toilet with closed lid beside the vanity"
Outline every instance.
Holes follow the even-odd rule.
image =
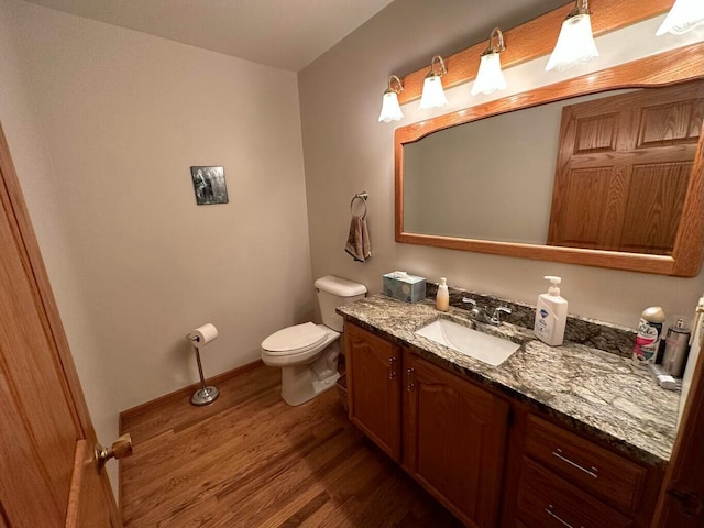
[[[316,280],[322,324],[304,322],[284,328],[262,341],[262,361],[282,367],[282,397],[288,405],[305,404],[332,388],[340,378],[342,317],[338,306],[366,295],[366,286],[334,275]]]

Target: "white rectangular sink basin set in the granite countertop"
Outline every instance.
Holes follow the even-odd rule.
[[[437,319],[415,333],[493,366],[501,365],[520,346],[447,319]]]

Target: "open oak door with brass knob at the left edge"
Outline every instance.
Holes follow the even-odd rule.
[[[119,527],[1,128],[0,204],[0,526]]]

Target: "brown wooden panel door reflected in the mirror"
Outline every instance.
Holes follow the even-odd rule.
[[[564,107],[548,244],[672,254],[703,117],[698,82]]]

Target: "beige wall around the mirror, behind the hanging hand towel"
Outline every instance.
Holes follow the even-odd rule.
[[[509,0],[472,2],[470,13],[468,3],[448,1],[443,2],[443,9],[438,9],[437,4],[422,0],[397,0],[299,73],[314,275],[334,272],[378,292],[382,274],[405,270],[433,282],[447,276],[453,286],[531,304],[546,290],[543,275],[561,275],[562,293],[573,314],[631,328],[647,306],[661,305],[668,314],[693,314],[696,299],[704,290],[703,274],[695,278],[673,278],[394,241],[394,129],[424,119],[428,113],[418,112],[414,102],[405,106],[407,119],[400,124],[377,123],[388,75],[405,75],[424,67],[436,53],[447,56],[469,47],[486,38],[494,25],[508,29],[521,22],[516,18],[488,19],[485,35],[466,35],[463,25],[470,16],[482,19],[484,9],[490,8],[510,11],[514,4]],[[542,6],[544,12],[551,8],[550,3],[542,1],[536,6]],[[538,12],[540,10],[532,14]],[[624,41],[618,36],[613,35],[615,45],[601,50],[605,58],[623,47]],[[672,45],[673,38],[652,36],[641,47]],[[509,87],[518,80],[514,74],[506,72]],[[546,75],[544,70],[535,73],[539,80]],[[453,96],[460,90],[465,90],[466,96],[459,102],[454,99],[454,107],[449,110],[472,105],[469,85],[454,89]],[[474,101],[482,100],[486,99]],[[367,218],[373,256],[365,263],[355,263],[343,252],[343,244],[350,218],[349,202],[361,190],[370,193]]]

